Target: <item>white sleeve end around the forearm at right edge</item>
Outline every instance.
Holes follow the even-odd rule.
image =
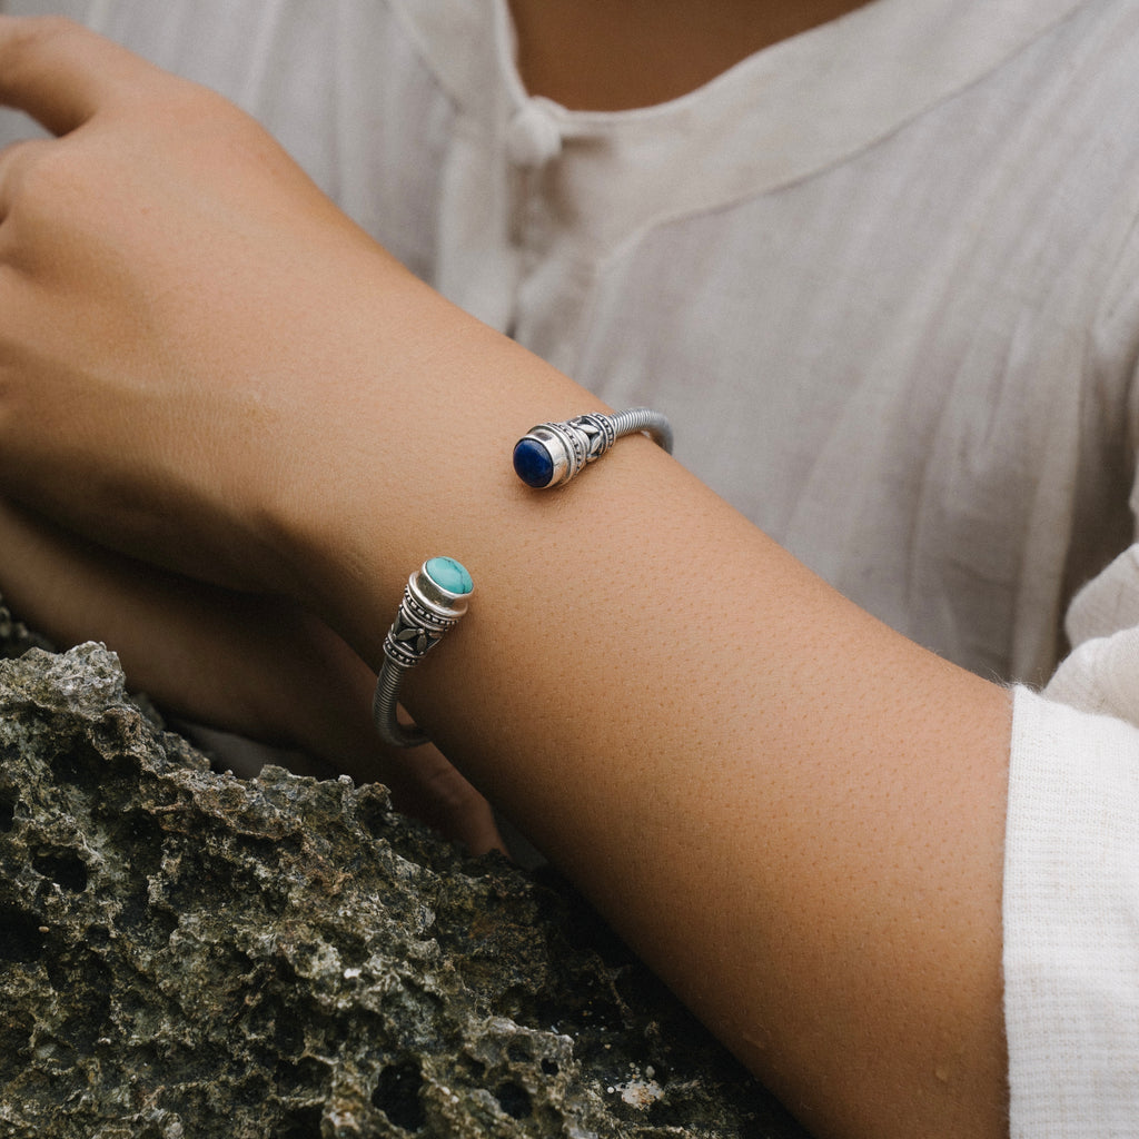
[[[1139,1133],[1139,547],[1014,703],[1005,1018],[1014,1139]]]

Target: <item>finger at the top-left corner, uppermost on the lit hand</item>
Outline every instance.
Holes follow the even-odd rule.
[[[75,130],[154,68],[58,16],[0,16],[0,104],[55,134]]]

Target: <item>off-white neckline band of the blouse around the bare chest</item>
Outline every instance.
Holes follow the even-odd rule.
[[[622,186],[593,236],[730,204],[836,165],[999,67],[1091,0],[870,0],[648,107],[571,110],[531,96],[507,0],[390,0],[464,120],[510,161],[575,156]],[[528,136],[511,151],[510,134]],[[521,155],[521,158],[518,156]],[[727,156],[727,157],[726,157]],[[636,218],[625,215],[631,208]]]

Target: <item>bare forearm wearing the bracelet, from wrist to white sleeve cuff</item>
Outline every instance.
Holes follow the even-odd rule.
[[[341,493],[282,524],[302,592],[376,664],[407,573],[462,560],[470,613],[405,696],[475,784],[820,1133],[1002,1133],[1005,693],[646,440],[527,490],[514,440],[596,401],[405,303],[377,359],[413,375],[355,377]]]

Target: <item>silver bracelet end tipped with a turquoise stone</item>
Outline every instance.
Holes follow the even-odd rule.
[[[400,685],[467,612],[474,590],[470,574],[454,558],[429,558],[409,579],[403,599],[384,638],[384,663],[376,679],[371,715],[380,739],[393,747],[427,743],[419,728],[405,727],[395,715]]]

